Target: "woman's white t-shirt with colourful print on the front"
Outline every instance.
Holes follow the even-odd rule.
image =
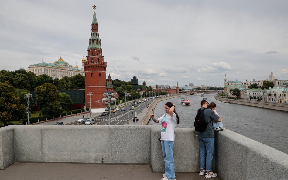
[[[162,125],[161,129],[161,140],[163,141],[175,141],[175,127],[176,127],[176,114],[164,114],[158,119],[159,124]]]

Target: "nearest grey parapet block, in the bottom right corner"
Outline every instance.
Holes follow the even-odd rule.
[[[287,154],[265,144],[248,147],[247,180],[284,180],[287,174]]]

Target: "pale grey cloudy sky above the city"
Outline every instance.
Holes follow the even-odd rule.
[[[0,69],[62,58],[81,68],[93,5],[106,77],[147,85],[288,79],[287,0],[4,0]]]

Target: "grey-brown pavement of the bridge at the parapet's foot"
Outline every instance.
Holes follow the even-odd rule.
[[[15,162],[0,170],[1,180],[161,180],[150,165]],[[177,180],[206,179],[199,173],[175,173]],[[219,180],[213,178],[213,180]]]

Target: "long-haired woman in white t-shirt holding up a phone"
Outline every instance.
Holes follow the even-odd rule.
[[[175,180],[175,164],[174,164],[174,141],[175,141],[175,127],[179,124],[179,116],[175,111],[175,104],[172,102],[165,103],[165,114],[156,119],[151,113],[151,119],[159,124],[162,124],[161,129],[161,145],[162,153],[165,162],[165,174],[162,180]]]

